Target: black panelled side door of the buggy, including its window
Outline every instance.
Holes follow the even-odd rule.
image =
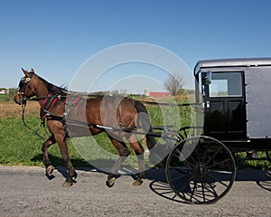
[[[204,134],[219,139],[245,138],[243,71],[202,72]]]

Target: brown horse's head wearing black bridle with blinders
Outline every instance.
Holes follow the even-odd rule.
[[[22,68],[23,70],[23,68]],[[36,82],[34,81],[36,76],[34,76],[33,69],[31,71],[23,70],[24,77],[20,80],[17,94],[14,96],[14,101],[23,106],[26,104],[26,100],[35,96],[35,86]]]

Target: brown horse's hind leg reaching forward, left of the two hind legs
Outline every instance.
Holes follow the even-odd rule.
[[[119,138],[118,140],[113,138],[113,137],[109,137],[112,144],[117,148],[118,151],[118,159],[116,161],[116,163],[111,167],[109,174],[107,176],[107,186],[108,187],[112,187],[117,179],[117,170],[120,168],[120,166],[123,164],[123,162],[126,160],[126,157],[130,155],[130,150],[129,148],[126,146],[125,142],[122,141],[121,138]]]

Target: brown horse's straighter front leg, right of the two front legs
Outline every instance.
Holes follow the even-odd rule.
[[[68,172],[68,177],[66,178],[66,180],[62,184],[62,186],[63,187],[70,187],[73,183],[75,183],[74,179],[77,178],[77,173],[75,172],[73,165],[70,162],[67,140],[65,139],[63,141],[63,137],[61,137],[61,139],[57,140],[57,143],[61,149],[61,156],[62,156],[62,159],[63,159],[65,165],[67,166],[67,172]]]

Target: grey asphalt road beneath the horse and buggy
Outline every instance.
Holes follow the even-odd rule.
[[[191,205],[173,198],[164,172],[148,171],[141,186],[123,175],[107,188],[107,175],[78,169],[77,183],[61,187],[63,168],[48,179],[43,168],[0,166],[0,216],[271,216],[271,177],[238,171],[237,181],[218,203]]]

